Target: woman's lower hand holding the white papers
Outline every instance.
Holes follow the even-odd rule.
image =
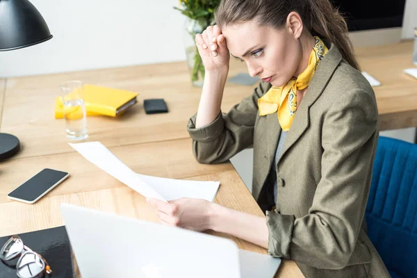
[[[156,208],[161,223],[193,231],[211,229],[211,203],[204,199],[181,198],[165,203],[147,198],[147,203]]]

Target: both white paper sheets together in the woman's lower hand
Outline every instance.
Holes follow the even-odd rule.
[[[70,143],[70,146],[101,170],[145,197],[165,202],[183,197],[213,202],[220,186],[218,181],[186,181],[136,174],[100,142]]]

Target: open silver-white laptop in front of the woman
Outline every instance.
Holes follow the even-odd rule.
[[[83,278],[272,278],[281,263],[218,236],[71,204],[61,212]]]

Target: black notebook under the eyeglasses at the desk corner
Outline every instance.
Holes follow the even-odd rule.
[[[0,238],[0,249],[10,236]],[[70,240],[64,226],[31,231],[29,233],[17,234],[17,236],[22,238],[24,245],[41,254],[47,260],[51,266],[52,273],[45,277],[74,278]],[[17,277],[16,270],[9,268],[0,261],[0,277],[15,278]]]

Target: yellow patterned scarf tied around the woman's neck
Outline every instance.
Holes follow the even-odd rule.
[[[309,86],[318,64],[329,51],[320,38],[314,38],[316,42],[306,70],[297,79],[293,77],[282,87],[272,86],[263,97],[258,99],[259,115],[264,116],[278,111],[278,120],[283,131],[290,129],[295,113],[297,113],[297,90],[303,90]]]

